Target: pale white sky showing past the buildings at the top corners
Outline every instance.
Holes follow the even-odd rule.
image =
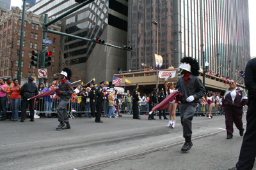
[[[243,1],[243,0],[241,0]],[[249,1],[249,19],[250,19],[250,50],[251,57],[256,57],[256,31],[253,31],[256,27],[256,1]],[[21,8],[22,0],[11,0],[11,6],[19,6]]]

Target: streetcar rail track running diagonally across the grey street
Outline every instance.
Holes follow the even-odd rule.
[[[215,134],[219,134],[219,133],[225,132],[225,131],[226,131],[226,129],[222,129],[221,131],[211,132],[209,134],[204,134],[202,136],[197,136],[195,138],[192,138],[192,141],[195,141],[195,140],[201,139],[201,138],[206,138],[208,136],[213,136]],[[184,141],[179,141],[179,142],[176,142],[176,143],[172,143],[170,145],[165,145],[165,146],[161,146],[159,148],[154,148],[154,149],[151,149],[151,150],[147,150],[145,152],[135,153],[135,154],[132,154],[132,155],[127,155],[125,157],[120,157],[118,159],[108,160],[108,161],[99,162],[99,163],[88,165],[88,166],[84,166],[84,167],[74,168],[74,170],[92,169],[94,167],[104,166],[106,164],[110,164],[110,163],[117,162],[117,161],[120,161],[120,160],[127,160],[127,159],[131,159],[133,157],[139,157],[141,155],[146,155],[148,153],[157,152],[159,150],[163,150],[163,149],[166,149],[166,148],[171,148],[173,146],[181,145],[183,143],[184,143]]]

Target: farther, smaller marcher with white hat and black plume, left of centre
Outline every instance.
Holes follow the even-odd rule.
[[[60,125],[56,129],[70,129],[70,124],[68,122],[68,113],[67,113],[67,104],[70,102],[70,99],[73,94],[73,87],[70,83],[70,78],[72,76],[72,71],[68,68],[64,68],[60,73],[60,84],[59,87],[55,87],[54,90],[58,92],[60,96],[60,104],[57,108],[58,120]],[[58,90],[59,89],[59,90]],[[66,126],[65,126],[65,124]]]

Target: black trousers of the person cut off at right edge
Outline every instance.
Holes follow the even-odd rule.
[[[256,157],[256,101],[248,101],[247,127],[240,150],[237,170],[252,169]]]

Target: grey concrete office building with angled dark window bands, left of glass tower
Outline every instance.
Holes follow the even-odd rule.
[[[88,39],[100,38],[111,45],[127,45],[127,4],[127,0],[95,0],[63,18],[61,30]],[[77,3],[73,0],[42,0],[29,11],[38,15],[47,13],[52,18],[74,6]],[[118,48],[62,36],[60,53],[66,64],[83,74],[83,82],[92,78],[96,82],[112,81],[113,74],[126,70],[127,51]]]

